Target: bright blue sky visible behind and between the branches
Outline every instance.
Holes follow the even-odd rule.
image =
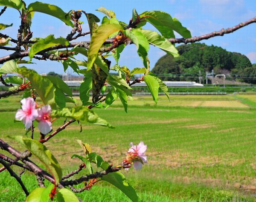
[[[25,2],[28,5],[34,1],[25,0]],[[186,26],[191,31],[192,36],[199,36],[212,31],[218,31],[222,28],[228,28],[256,16],[256,0],[41,0],[41,2],[55,4],[61,7],[64,12],[68,12],[71,9],[82,9],[87,13],[96,14],[100,19],[104,15],[95,10],[100,6],[104,6],[107,9],[113,10],[116,13],[116,17],[126,23],[131,18],[133,8],[137,9],[139,14],[149,10],[162,10],[180,20],[183,26]],[[83,31],[87,31],[86,18],[82,17],[81,20],[84,21]],[[13,23],[12,27],[2,30],[1,33],[16,38],[20,18],[15,9],[8,8],[0,17],[0,23]],[[145,28],[154,29],[150,25],[145,26]],[[66,37],[71,31],[71,28],[62,21],[42,13],[35,13],[31,29],[33,37],[42,38],[50,34],[54,34],[56,38],[59,36]],[[179,37],[177,35],[177,38]],[[79,38],[79,40],[84,41],[89,40],[89,38],[86,36]],[[252,63],[256,63],[256,23],[250,24],[234,33],[201,42],[208,45],[221,46],[227,49],[227,51],[241,52],[247,55]],[[1,57],[8,54],[9,52],[0,50]],[[154,64],[163,55],[165,55],[165,52],[155,47],[150,47],[149,59],[151,68],[154,67]],[[64,72],[62,64],[59,62],[37,60],[34,60],[34,62],[36,64],[26,66],[35,69],[39,73],[49,71]],[[119,64],[128,66],[129,69],[143,66],[134,45],[125,47]]]

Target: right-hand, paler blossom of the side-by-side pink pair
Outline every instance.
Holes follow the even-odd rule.
[[[39,121],[38,128],[45,135],[52,130],[51,112],[52,109],[49,104],[38,109],[38,117],[36,118]]]

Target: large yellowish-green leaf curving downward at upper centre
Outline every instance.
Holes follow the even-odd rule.
[[[96,29],[91,37],[90,48],[88,49],[87,67],[90,69],[97,58],[99,49],[109,37],[109,35],[122,31],[122,26],[117,24],[102,24]]]

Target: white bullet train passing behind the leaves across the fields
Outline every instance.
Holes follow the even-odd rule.
[[[78,87],[82,81],[64,81],[70,87]],[[132,81],[130,81],[132,82]],[[163,81],[168,87],[203,87],[203,84],[198,84],[194,81]],[[107,85],[108,86],[108,85]],[[133,87],[147,86],[144,81],[132,85]]]

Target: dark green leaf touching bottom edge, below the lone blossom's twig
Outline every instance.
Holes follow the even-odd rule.
[[[102,177],[102,180],[111,183],[119,188],[126,196],[128,196],[133,202],[138,201],[138,196],[134,188],[126,181],[125,176],[120,172],[109,173]]]

